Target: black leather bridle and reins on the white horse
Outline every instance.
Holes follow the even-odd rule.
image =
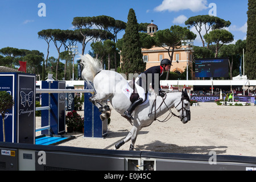
[[[165,92],[165,93],[173,93],[173,92],[167,91],[167,92]],[[160,104],[160,106],[158,107],[158,109],[159,109],[163,104],[166,105],[167,109],[168,109],[169,112],[170,112],[170,113],[167,115],[167,117],[166,117],[163,121],[160,121],[159,119],[156,118],[156,111],[158,110],[158,109],[156,109],[156,98],[155,98],[155,100],[154,100],[154,102],[153,102],[153,104],[152,104],[151,113],[148,114],[148,117],[150,117],[150,116],[152,115],[152,113],[154,112],[154,113],[155,113],[154,121],[158,120],[159,122],[166,122],[166,121],[168,121],[172,116],[175,116],[175,117],[177,117],[177,118],[180,118],[181,121],[182,121],[185,117],[187,117],[188,115],[190,115],[190,110],[187,110],[187,109],[185,109],[185,107],[183,107],[183,102],[184,102],[184,100],[187,100],[187,101],[190,100],[188,96],[187,96],[187,97],[184,97],[183,94],[182,94],[179,104],[177,104],[177,105],[175,106],[175,109],[176,109],[177,106],[179,106],[180,104],[182,104],[181,109],[177,110],[178,112],[179,112],[180,110],[182,110],[182,111],[181,111],[181,115],[176,115],[174,112],[172,112],[171,108],[169,108],[169,107],[167,106],[166,102],[164,101],[164,100],[166,100],[166,97],[167,97],[167,94],[165,94],[165,96],[163,97],[163,101],[162,101],[162,103]],[[155,105],[155,111],[153,111],[153,106],[154,106],[154,105]],[[184,116],[184,114],[183,114],[183,113],[184,113],[184,112],[183,112],[184,110],[186,111],[186,115],[185,115],[185,116]],[[171,116],[169,117],[170,114],[171,114]],[[168,118],[168,117],[169,117],[169,118]]]

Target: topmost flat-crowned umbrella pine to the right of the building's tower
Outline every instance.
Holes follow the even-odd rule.
[[[218,18],[217,16],[197,15],[188,18],[185,21],[185,24],[196,28],[196,31],[199,33],[199,36],[203,43],[203,47],[205,47],[203,35],[201,34],[203,28],[206,34],[208,34],[210,28],[212,28],[212,30],[217,28],[221,29],[224,27],[229,27],[231,23],[229,21],[225,21],[224,19]]]

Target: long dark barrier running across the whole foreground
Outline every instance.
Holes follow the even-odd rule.
[[[201,154],[116,151],[9,142],[0,142],[0,151],[0,170],[13,171],[105,170],[111,174],[109,171],[256,170],[256,157],[251,156],[216,155],[213,158],[212,155]]]

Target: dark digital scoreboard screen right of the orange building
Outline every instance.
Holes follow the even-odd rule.
[[[195,77],[229,77],[228,57],[196,59],[195,63]]]

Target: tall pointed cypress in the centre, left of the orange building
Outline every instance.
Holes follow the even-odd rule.
[[[146,68],[141,53],[138,23],[133,9],[129,10],[125,35],[123,35],[121,71],[128,76],[129,73],[141,73]]]

